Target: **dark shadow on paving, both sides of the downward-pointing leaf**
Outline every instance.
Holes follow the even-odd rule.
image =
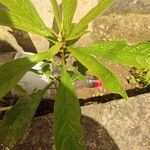
[[[86,150],[119,150],[107,130],[93,119],[82,116]],[[14,150],[53,150],[53,116],[36,118]]]

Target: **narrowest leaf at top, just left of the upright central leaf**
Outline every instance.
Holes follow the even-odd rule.
[[[54,16],[58,25],[59,30],[61,30],[61,15],[59,11],[59,6],[57,0],[51,0],[51,4],[53,7]]]

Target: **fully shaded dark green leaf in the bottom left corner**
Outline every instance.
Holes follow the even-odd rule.
[[[43,91],[25,96],[6,112],[0,124],[0,139],[8,148],[12,149],[25,132],[42,96]]]

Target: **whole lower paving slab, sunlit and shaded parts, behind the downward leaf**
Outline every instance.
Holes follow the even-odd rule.
[[[82,107],[87,150],[149,150],[150,94]],[[53,150],[53,115],[36,118],[15,150]]]

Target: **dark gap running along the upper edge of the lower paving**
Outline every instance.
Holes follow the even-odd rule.
[[[138,96],[148,92],[150,92],[150,87],[127,90],[129,97]],[[0,102],[0,106],[14,105],[18,99],[19,99],[18,97],[14,97],[12,101],[12,97],[5,97],[6,101]],[[79,100],[80,100],[80,105],[84,107],[93,103],[97,103],[97,104],[107,103],[107,102],[120,100],[120,99],[122,99],[122,97],[118,94],[107,94],[104,96],[97,96],[97,97],[91,97],[88,99],[79,99]],[[38,117],[38,116],[46,115],[49,113],[53,113],[53,111],[54,111],[54,100],[44,99],[43,101],[41,101],[35,116]],[[5,112],[0,112],[0,119],[3,118],[4,114]]]

